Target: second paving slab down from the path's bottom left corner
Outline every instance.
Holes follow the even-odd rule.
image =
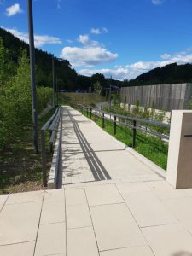
[[[67,207],[67,229],[92,226],[90,211],[86,205]]]

